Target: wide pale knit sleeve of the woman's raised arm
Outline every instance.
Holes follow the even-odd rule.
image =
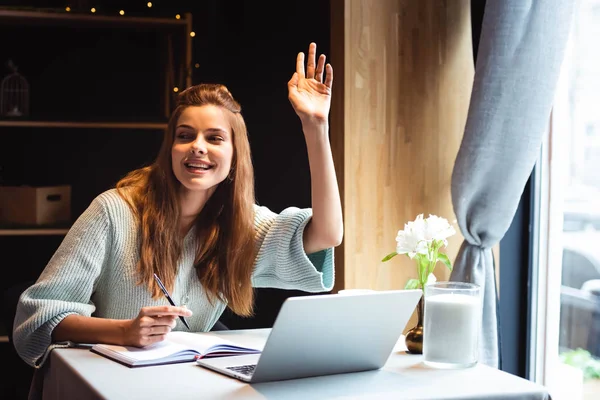
[[[304,228],[312,210],[289,207],[277,214],[267,207],[255,207],[258,254],[254,287],[325,292],[333,288],[333,248],[313,254],[304,251]]]

